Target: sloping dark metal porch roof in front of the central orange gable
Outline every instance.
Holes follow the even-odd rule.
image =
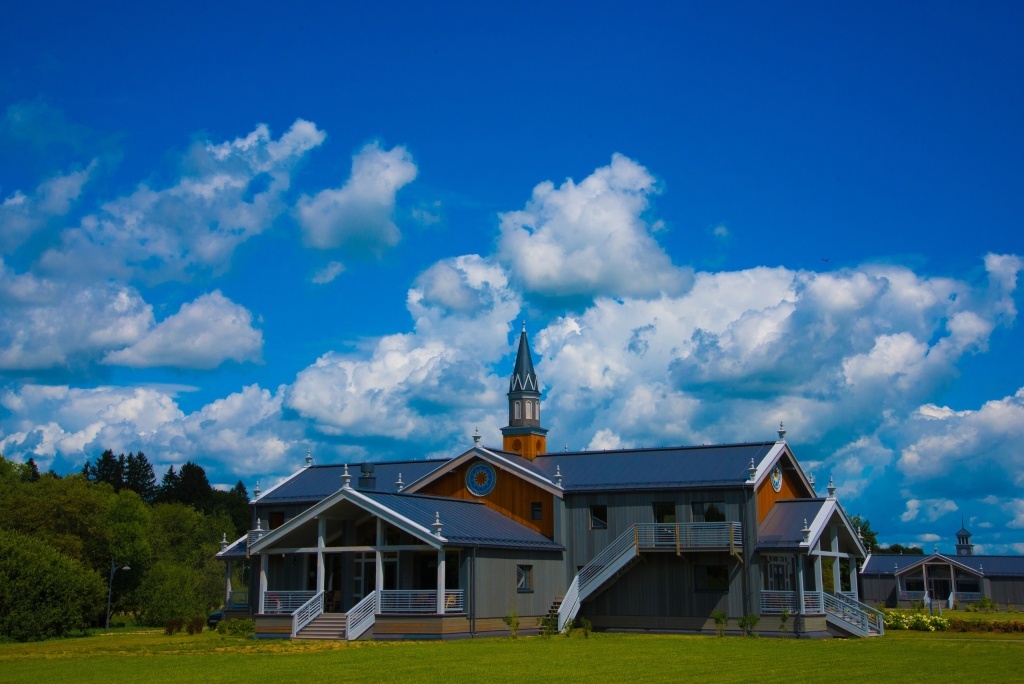
[[[367,490],[361,494],[428,529],[432,529],[434,516],[439,516],[441,537],[447,540],[450,546],[563,550],[560,544],[480,502],[415,494]]]

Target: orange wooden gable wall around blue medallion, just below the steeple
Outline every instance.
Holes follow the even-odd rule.
[[[499,513],[536,529],[548,539],[553,539],[555,536],[554,495],[545,491],[532,482],[516,477],[507,470],[495,468],[495,473],[498,475],[495,488],[486,497],[474,497],[466,488],[466,471],[477,461],[478,459],[473,459],[464,463],[454,473],[447,473],[434,480],[417,494],[482,501]],[[541,520],[530,520],[530,506],[535,501],[541,502],[543,511]]]

